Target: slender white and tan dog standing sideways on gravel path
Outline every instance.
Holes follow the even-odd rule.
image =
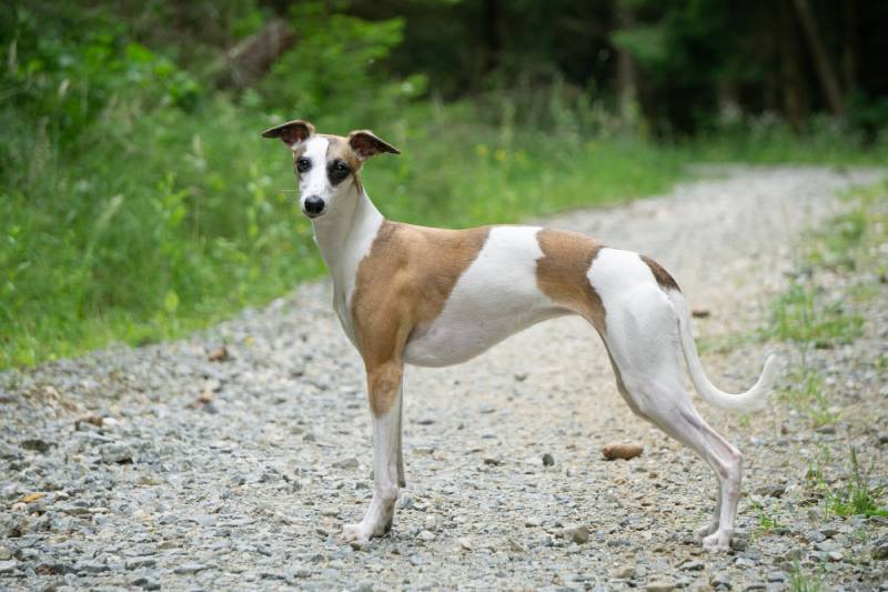
[[[715,472],[715,515],[698,536],[707,550],[728,549],[741,456],[694,409],[679,357],[684,352],[708,403],[735,410],[764,402],[776,372],[773,358],[750,390],[725,393],[706,378],[678,285],[650,259],[537,227],[443,230],[393,222],[373,205],[359,177],[370,157],[398,153],[372,132],[316,134],[311,123],[290,121],[262,136],[280,138],[293,152],[302,211],[333,277],[333,307],[366,367],[374,489],[364,519],[344,528],[349,542],[364,544],[391,529],[405,484],[404,364],[465,362],[534,323],[579,314],[604,340],[632,410]]]

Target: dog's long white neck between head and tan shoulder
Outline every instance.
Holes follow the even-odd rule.
[[[339,199],[342,210],[312,221],[312,227],[336,290],[347,290],[382,225],[383,215],[370,201],[363,184],[353,184],[350,194]]]

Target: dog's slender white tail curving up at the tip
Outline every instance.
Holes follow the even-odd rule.
[[[690,332],[690,312],[688,311],[685,297],[677,290],[669,290],[668,297],[678,313],[678,331],[682,335],[682,349],[685,353],[685,361],[687,362],[687,369],[690,373],[690,380],[694,382],[697,392],[700,393],[710,405],[729,411],[748,411],[763,407],[768,394],[770,394],[774,380],[777,377],[777,357],[769,355],[768,359],[765,360],[765,369],[761,371],[761,375],[748,391],[731,394],[717,389],[706,377],[706,371],[704,371],[699,355],[697,355],[697,345],[694,343],[694,335]]]

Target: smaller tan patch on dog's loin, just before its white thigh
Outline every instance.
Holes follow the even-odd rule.
[[[536,240],[543,251],[536,261],[539,290],[604,333],[604,304],[587,275],[602,244],[578,232],[548,229],[541,230]]]

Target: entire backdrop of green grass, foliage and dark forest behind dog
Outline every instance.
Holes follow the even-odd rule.
[[[888,3],[13,1],[0,14],[0,368],[148,343],[322,272],[293,118],[373,128],[386,214],[515,221],[692,162],[884,164]]]

